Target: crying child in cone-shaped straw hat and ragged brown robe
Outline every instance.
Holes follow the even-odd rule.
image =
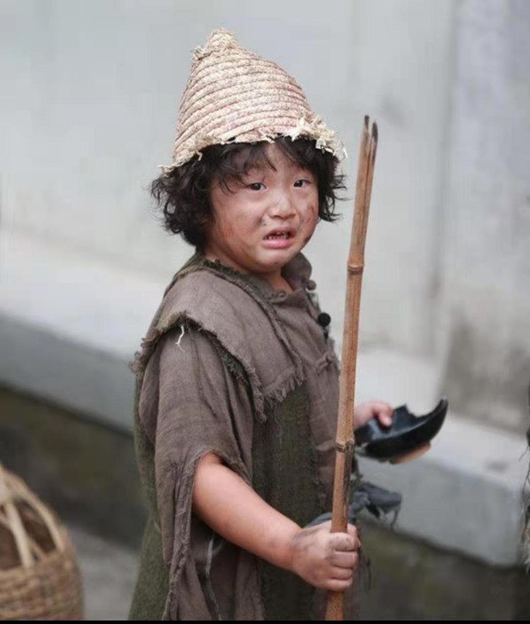
[[[300,250],[335,218],[341,144],[232,33],[194,57],[152,187],[196,252],[134,363],[150,516],[130,617],[322,617],[315,588],[351,586],[360,541],[353,525],[303,529],[331,509],[338,366]],[[355,426],[390,414],[364,404]]]

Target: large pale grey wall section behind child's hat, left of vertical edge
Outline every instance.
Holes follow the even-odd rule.
[[[145,187],[169,162],[190,51],[225,26],[297,77],[343,137],[350,197],[362,116],[378,120],[363,342],[432,354],[453,3],[327,6],[316,19],[298,1],[3,2],[2,227],[169,276],[190,249],[157,227]],[[351,202],[341,208],[308,247],[336,334]]]

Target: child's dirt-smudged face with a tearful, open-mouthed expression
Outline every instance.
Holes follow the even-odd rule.
[[[267,165],[250,170],[243,184],[231,183],[232,192],[214,182],[211,190],[213,225],[205,253],[243,273],[269,280],[311,238],[318,219],[315,176],[290,162],[275,144]]]

